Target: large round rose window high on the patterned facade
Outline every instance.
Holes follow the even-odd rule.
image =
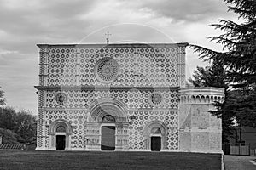
[[[115,59],[105,57],[95,65],[95,76],[103,83],[113,82],[119,75],[119,65]]]

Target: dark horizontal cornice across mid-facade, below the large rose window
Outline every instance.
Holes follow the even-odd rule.
[[[178,90],[179,87],[120,87],[120,86],[35,86],[38,90],[47,90],[47,91],[161,91],[161,90]]]

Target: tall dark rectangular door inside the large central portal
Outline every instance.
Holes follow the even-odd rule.
[[[115,127],[102,127],[102,150],[115,149]]]

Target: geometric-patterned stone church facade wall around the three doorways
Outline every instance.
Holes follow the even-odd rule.
[[[55,150],[54,122],[71,129],[66,133],[68,150],[96,149],[101,122],[90,117],[90,108],[101,99],[115,99],[127,110],[125,121],[114,124],[116,144],[149,150],[150,134],[144,132],[151,123],[165,127],[162,149],[178,150],[178,89],[185,85],[187,45],[38,45],[37,149]]]

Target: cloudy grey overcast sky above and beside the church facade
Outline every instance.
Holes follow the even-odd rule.
[[[37,114],[37,43],[189,42],[207,40],[208,26],[236,20],[223,0],[0,0],[0,86],[7,104]],[[187,73],[202,63],[187,50]]]

